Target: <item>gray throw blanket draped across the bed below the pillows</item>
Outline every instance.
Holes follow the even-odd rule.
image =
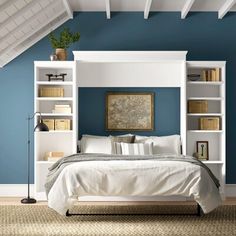
[[[183,156],[183,155],[167,155],[167,154],[162,154],[162,155],[112,155],[112,154],[74,154],[71,156],[64,157],[57,162],[55,162],[50,168],[49,168],[49,173],[46,178],[46,183],[45,183],[45,190],[46,194],[48,196],[48,193],[50,189],[52,188],[53,184],[55,183],[57,177],[59,174],[62,172],[62,170],[76,162],[81,162],[81,161],[114,161],[114,160],[156,160],[156,161],[182,161],[182,162],[188,162],[192,163],[195,165],[199,165],[203,167],[209,174],[209,176],[212,178],[214,181],[215,185],[219,188],[220,183],[219,180],[212,174],[211,170],[204,165],[201,161],[197,160],[194,157],[191,156]]]

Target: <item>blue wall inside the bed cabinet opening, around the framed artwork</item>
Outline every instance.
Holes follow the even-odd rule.
[[[106,92],[153,92],[154,130],[132,132],[140,135],[170,135],[180,133],[179,88],[80,88],[79,134],[109,135],[127,132],[110,132],[105,127]]]

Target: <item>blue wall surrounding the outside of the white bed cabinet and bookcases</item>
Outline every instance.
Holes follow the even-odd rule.
[[[64,26],[79,30],[77,50],[188,50],[188,60],[227,61],[227,183],[236,184],[236,13],[79,13]],[[62,27],[64,27],[62,26]],[[59,31],[61,30],[58,29]],[[26,183],[26,117],[33,112],[33,61],[48,60],[46,38],[0,69],[0,183]],[[72,53],[69,58],[73,59]],[[31,169],[33,170],[33,164]],[[31,178],[33,181],[33,178]]]

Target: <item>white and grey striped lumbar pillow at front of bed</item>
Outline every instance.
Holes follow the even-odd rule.
[[[122,155],[152,155],[153,143],[121,143]]]

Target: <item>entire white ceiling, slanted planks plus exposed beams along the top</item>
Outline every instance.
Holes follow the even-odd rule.
[[[236,0],[0,0],[0,67],[3,67],[68,19],[73,11],[216,11],[222,19],[236,11]],[[105,16],[105,14],[104,14]]]

